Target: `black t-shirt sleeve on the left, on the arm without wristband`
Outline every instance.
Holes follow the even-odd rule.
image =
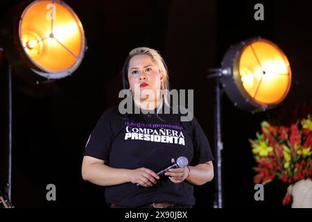
[[[103,114],[99,119],[94,130],[92,130],[92,133],[89,135],[83,155],[109,161],[113,141],[110,119],[111,118],[107,116],[107,114]]]

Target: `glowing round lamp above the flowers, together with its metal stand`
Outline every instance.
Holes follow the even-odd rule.
[[[279,47],[263,38],[231,46],[220,69],[209,69],[216,78],[215,150],[216,196],[214,207],[223,207],[221,96],[223,90],[241,110],[261,112],[275,108],[291,88],[291,67]]]

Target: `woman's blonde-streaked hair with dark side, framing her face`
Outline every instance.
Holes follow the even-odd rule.
[[[128,69],[129,69],[129,63],[130,59],[134,56],[141,56],[141,55],[148,55],[152,58],[153,62],[157,67],[159,68],[159,72],[162,72],[164,74],[164,83],[162,83],[160,89],[162,90],[162,101],[161,103],[165,103],[170,107],[168,96],[169,96],[169,76],[168,76],[168,69],[166,66],[166,62],[164,62],[164,59],[162,56],[160,56],[160,53],[156,51],[155,49],[150,49],[148,47],[139,47],[132,49],[128,55],[128,58],[125,60],[125,65],[123,66],[123,88],[128,89],[129,88],[129,80],[128,80]],[[159,105],[159,109],[162,108],[162,105]],[[157,110],[158,112],[159,110]]]

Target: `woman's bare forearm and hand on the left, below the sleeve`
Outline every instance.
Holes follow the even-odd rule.
[[[104,160],[94,157],[83,157],[81,167],[83,180],[88,180],[96,185],[111,186],[120,185],[125,182],[138,183],[148,187],[156,184],[155,178],[159,176],[150,169],[141,167],[139,169],[116,169],[105,165]]]

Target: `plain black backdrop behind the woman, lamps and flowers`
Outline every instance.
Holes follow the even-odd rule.
[[[0,15],[21,1],[1,1]],[[103,189],[83,181],[81,154],[103,110],[118,101],[127,53],[149,46],[162,53],[171,88],[194,89],[194,112],[214,149],[214,83],[207,69],[220,67],[229,46],[266,37],[286,53],[293,83],[282,107],[311,105],[311,3],[308,1],[65,1],[85,28],[88,51],[78,70],[53,87],[29,89],[13,78],[12,203],[15,207],[106,207]],[[264,21],[254,19],[263,3]],[[6,72],[1,65],[1,180],[6,179]],[[44,88],[44,87],[43,87]],[[254,200],[254,160],[248,139],[268,114],[235,108],[223,95],[224,207],[282,207],[286,185],[265,188]],[[56,201],[46,200],[46,185]],[[196,187],[195,207],[212,207],[215,180]]]

